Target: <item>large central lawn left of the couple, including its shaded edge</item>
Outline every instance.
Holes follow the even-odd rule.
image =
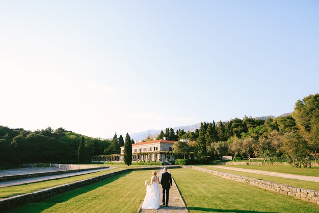
[[[6,212],[135,213],[146,194],[144,181],[150,177],[151,171],[126,172],[41,202],[24,204]]]

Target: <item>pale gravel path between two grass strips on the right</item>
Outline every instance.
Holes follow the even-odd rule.
[[[235,171],[240,171],[240,172],[249,172],[249,173],[255,173],[255,174],[260,174],[260,175],[269,175],[269,176],[282,177],[282,178],[290,178],[290,179],[297,179],[297,180],[319,182],[319,177],[314,177],[314,176],[293,175],[293,174],[280,173],[280,172],[250,170],[250,169],[242,169],[242,168],[235,168],[235,167],[223,167],[222,165],[209,165],[209,167],[226,169],[226,170],[235,170]]]

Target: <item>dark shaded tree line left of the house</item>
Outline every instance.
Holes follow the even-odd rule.
[[[130,139],[130,141],[134,143],[134,140]],[[81,150],[79,150],[80,145]],[[79,159],[81,162],[89,162],[95,155],[120,154],[121,146],[124,146],[124,138],[122,135],[117,137],[116,133],[113,139],[102,139],[88,137],[63,128],[54,130],[48,127],[28,131],[22,128],[12,129],[0,126],[0,164],[75,163]]]

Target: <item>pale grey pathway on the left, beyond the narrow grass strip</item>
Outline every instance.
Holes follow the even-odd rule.
[[[44,180],[54,180],[59,178],[66,178],[66,177],[72,177],[72,176],[78,176],[78,175],[85,175],[93,172],[99,172],[101,170],[105,169],[111,169],[111,168],[100,168],[96,170],[87,170],[82,172],[73,172],[73,173],[67,173],[67,174],[61,174],[61,175],[49,175],[49,176],[42,176],[42,177],[34,177],[34,178],[26,178],[21,180],[9,180],[9,181],[3,181],[0,182],[0,188],[13,186],[13,185],[21,185],[26,183],[34,183],[34,182],[40,182]]]

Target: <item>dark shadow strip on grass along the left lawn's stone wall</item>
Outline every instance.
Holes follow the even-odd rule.
[[[100,180],[100,181],[98,181],[96,183],[85,185],[85,186],[80,187],[80,188],[75,188],[75,189],[70,190],[68,192],[49,197],[49,198],[46,198],[44,200],[41,200],[41,201],[38,201],[38,202],[35,202],[35,203],[26,203],[26,204],[23,204],[23,205],[21,205],[19,207],[9,209],[9,210],[5,211],[4,213],[9,213],[9,212],[12,212],[12,213],[13,212],[17,212],[17,213],[18,212],[21,212],[21,213],[31,213],[31,212],[32,213],[40,213],[43,210],[45,210],[47,208],[50,208],[50,207],[54,206],[57,203],[66,202],[66,201],[68,201],[68,200],[70,200],[70,199],[72,199],[72,198],[74,198],[76,196],[88,193],[90,191],[95,190],[96,188],[99,188],[99,187],[104,186],[106,184],[112,183],[113,181],[116,181],[119,178],[130,174],[131,172],[132,171],[124,172],[124,173],[121,173],[119,175],[115,175],[115,176],[109,177],[107,179]]]

